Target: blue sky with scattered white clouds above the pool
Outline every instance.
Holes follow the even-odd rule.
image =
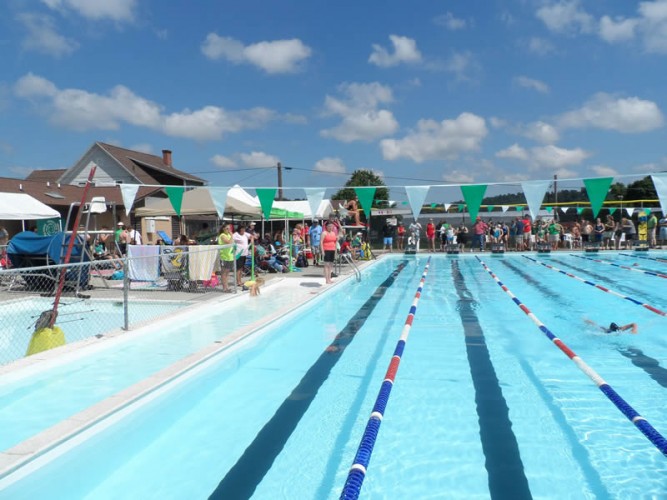
[[[250,187],[667,169],[667,0],[6,0],[0,26],[3,176],[94,141]]]

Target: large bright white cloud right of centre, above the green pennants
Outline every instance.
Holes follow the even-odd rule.
[[[409,158],[421,163],[456,159],[461,153],[478,150],[487,132],[484,118],[461,113],[454,120],[420,120],[417,130],[403,139],[384,139],[380,147],[385,160]]]

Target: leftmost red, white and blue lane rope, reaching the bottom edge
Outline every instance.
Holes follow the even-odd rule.
[[[366,470],[368,469],[368,464],[371,461],[371,454],[373,453],[373,447],[375,446],[375,440],[377,439],[378,432],[380,431],[380,424],[384,417],[384,411],[387,408],[387,402],[389,401],[389,395],[391,394],[391,388],[394,386],[394,379],[396,378],[396,372],[398,372],[398,365],[401,364],[401,357],[403,356],[403,350],[405,349],[405,344],[408,341],[408,335],[410,335],[410,328],[412,328],[412,321],[417,314],[417,304],[419,304],[419,299],[424,289],[424,282],[426,281],[426,275],[428,274],[428,268],[431,265],[431,257],[426,261],[426,267],[422,273],[421,280],[419,280],[419,288],[417,288],[417,293],[415,298],[412,300],[412,305],[410,306],[410,312],[408,317],[405,320],[405,325],[403,326],[403,331],[401,332],[401,337],[396,344],[396,349],[394,350],[394,355],[391,358],[389,363],[389,368],[387,368],[387,373],[384,376],[384,381],[380,386],[380,392],[375,400],[375,405],[373,405],[373,411],[371,416],[368,419],[366,424],[366,429],[364,430],[364,435],[361,438],[361,443],[359,443],[359,448],[357,448],[357,454],[354,457],[354,463],[350,468],[350,472],[347,474],[347,480],[345,481],[345,486],[343,486],[343,491],[340,494],[341,499],[357,499],[359,498],[359,493],[361,492],[361,485],[364,482],[366,477]]]

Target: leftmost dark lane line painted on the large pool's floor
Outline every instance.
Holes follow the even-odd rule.
[[[407,264],[408,261],[401,261],[348,320],[271,419],[264,424],[243,455],[227,471],[225,477],[209,496],[210,500],[244,499],[253,495],[345,349],[354,340],[357,332],[364,326],[377,304]]]

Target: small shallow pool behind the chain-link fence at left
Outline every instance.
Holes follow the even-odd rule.
[[[188,305],[176,301],[132,300],[129,308],[131,324],[158,318]],[[36,318],[53,308],[53,298],[24,297],[3,302],[0,318],[0,360],[9,363],[25,356]],[[123,302],[118,300],[66,299],[59,311],[67,343],[94,337],[122,328]],[[65,326],[66,324],[66,326]]]

